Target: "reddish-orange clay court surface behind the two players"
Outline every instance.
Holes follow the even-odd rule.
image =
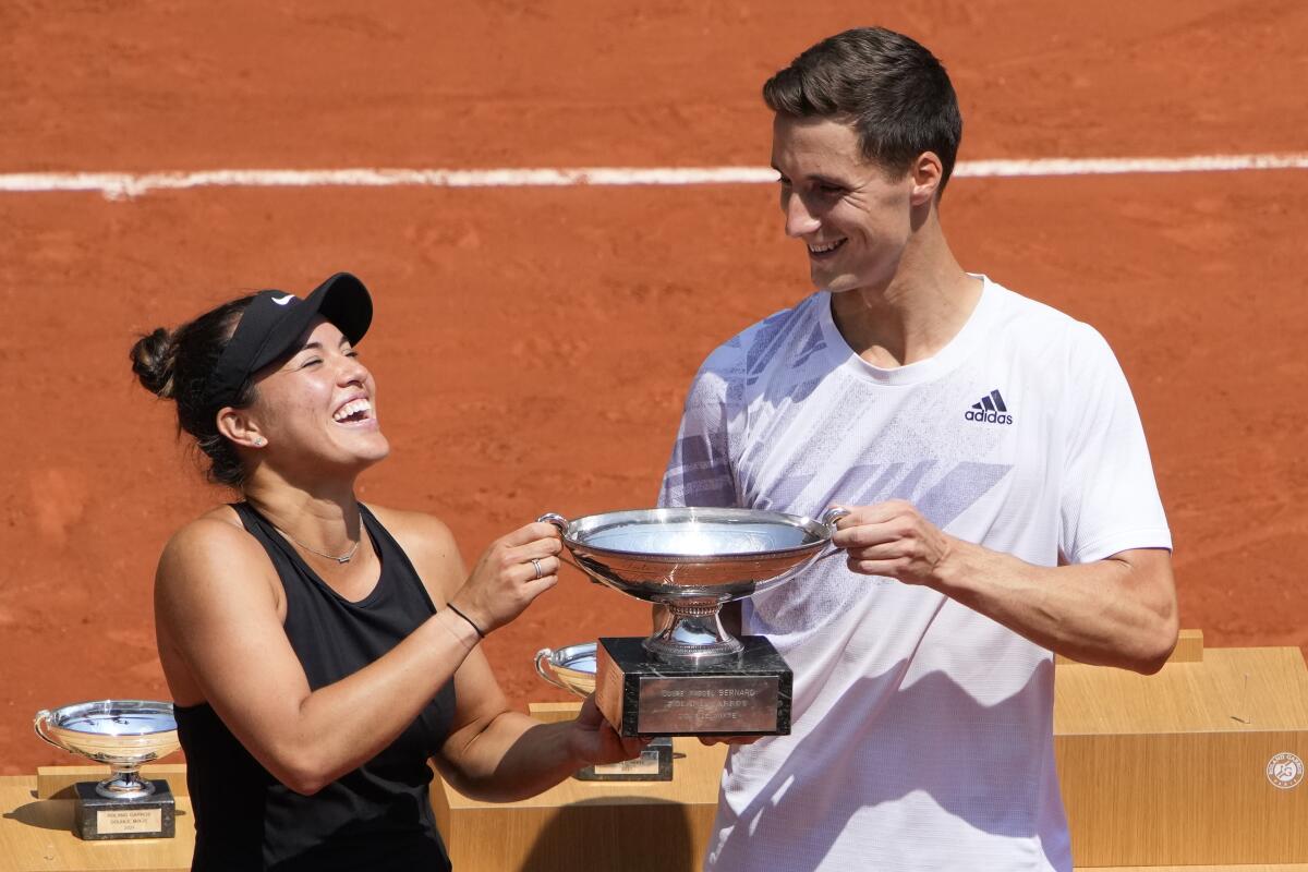
[[[759,166],[759,85],[870,24],[781,3],[0,7],[0,171]],[[566,8],[568,12],[561,9]],[[921,0],[961,157],[1308,150],[1299,0]],[[960,260],[1097,326],[1137,394],[1182,624],[1308,646],[1308,173],[959,179]],[[0,773],[68,763],[33,714],[166,698],[150,584],[200,484],[133,333],[245,289],[371,286],[364,343],[395,447],[361,495],[443,518],[464,557],[543,511],[653,502],[688,380],[810,293],[766,186],[0,193]],[[570,570],[487,650],[517,705],[542,646],[636,634]]]

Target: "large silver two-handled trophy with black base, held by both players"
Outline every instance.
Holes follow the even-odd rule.
[[[793,676],[772,643],[736,639],[734,600],[790,580],[828,548],[844,509],[819,520],[752,509],[547,514],[576,565],[664,607],[653,635],[600,638],[595,702],[623,736],[785,735]]]

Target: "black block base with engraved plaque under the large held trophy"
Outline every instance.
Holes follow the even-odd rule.
[[[761,635],[709,664],[666,663],[640,638],[602,638],[595,702],[621,736],[785,736],[791,673]]]

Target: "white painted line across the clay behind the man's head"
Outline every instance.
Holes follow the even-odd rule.
[[[1207,154],[1196,157],[1039,158],[960,161],[956,178],[1117,175],[1133,173],[1216,173],[1232,170],[1304,170],[1308,153]],[[579,167],[522,170],[199,170],[192,173],[4,173],[0,192],[44,193],[98,191],[110,200],[150,191],[205,187],[436,187],[518,188],[569,186],[760,184],[777,179],[768,167]]]

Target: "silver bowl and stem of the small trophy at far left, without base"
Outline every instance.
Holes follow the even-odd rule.
[[[145,763],[181,746],[173,703],[101,699],[41,710],[33,727],[43,740],[73,754],[109,763],[112,775],[95,786],[106,799],[139,799],[154,792],[140,777]]]

